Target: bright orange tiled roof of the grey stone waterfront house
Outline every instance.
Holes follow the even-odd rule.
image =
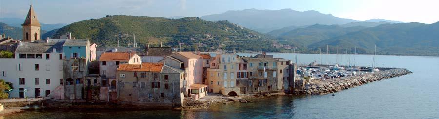
[[[117,71],[161,72],[163,63],[119,64]]]

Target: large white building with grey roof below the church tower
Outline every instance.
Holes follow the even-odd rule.
[[[0,59],[0,78],[11,82],[9,97],[44,97],[62,85],[63,42],[20,42],[15,58]]]

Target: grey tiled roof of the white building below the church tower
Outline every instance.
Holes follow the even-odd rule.
[[[17,46],[16,53],[51,53],[55,48],[58,53],[62,52],[64,42],[21,42]]]

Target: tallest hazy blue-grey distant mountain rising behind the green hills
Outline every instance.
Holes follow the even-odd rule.
[[[295,11],[292,9],[258,10],[245,9],[227,11],[221,14],[202,16],[209,21],[227,20],[258,32],[267,33],[287,26],[305,26],[313,24],[346,24],[357,20],[334,17],[318,11]]]

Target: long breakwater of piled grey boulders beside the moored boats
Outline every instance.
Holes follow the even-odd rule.
[[[412,72],[403,68],[392,68],[375,73],[367,73],[358,76],[318,80],[306,84],[304,90],[296,90],[296,95],[324,95],[341,90],[357,87],[374,81],[399,77]]]

